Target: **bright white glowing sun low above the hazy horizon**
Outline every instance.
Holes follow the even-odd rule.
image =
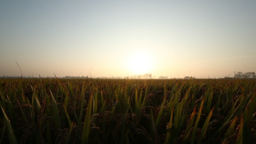
[[[150,73],[152,61],[150,54],[143,51],[133,52],[126,58],[126,67],[132,75]]]

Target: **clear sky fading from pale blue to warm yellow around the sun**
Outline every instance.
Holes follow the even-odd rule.
[[[234,77],[255,25],[255,0],[1,0],[0,76]]]

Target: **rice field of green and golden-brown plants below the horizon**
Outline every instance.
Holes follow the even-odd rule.
[[[0,79],[1,144],[249,144],[256,80]]]

